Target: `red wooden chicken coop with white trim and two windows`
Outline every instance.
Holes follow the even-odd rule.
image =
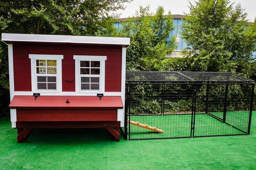
[[[11,122],[32,129],[124,127],[129,38],[2,33],[8,45]]]

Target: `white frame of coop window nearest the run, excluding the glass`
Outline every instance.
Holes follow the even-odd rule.
[[[105,92],[105,60],[107,56],[101,55],[74,55],[76,69],[76,92],[79,93],[104,93]],[[100,75],[80,75],[80,61],[100,61]],[[81,77],[100,77],[100,88],[97,90],[81,90]]]

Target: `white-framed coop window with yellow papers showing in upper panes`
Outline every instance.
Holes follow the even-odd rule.
[[[29,55],[33,92],[62,91],[61,59],[63,55]]]

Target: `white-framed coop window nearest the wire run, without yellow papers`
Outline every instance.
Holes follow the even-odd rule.
[[[104,92],[106,56],[74,55],[76,92]]]

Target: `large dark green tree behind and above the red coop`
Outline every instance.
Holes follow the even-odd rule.
[[[8,0],[0,1],[2,33],[116,36],[113,26],[131,0]],[[7,46],[0,46],[0,117],[7,113],[9,75]]]

